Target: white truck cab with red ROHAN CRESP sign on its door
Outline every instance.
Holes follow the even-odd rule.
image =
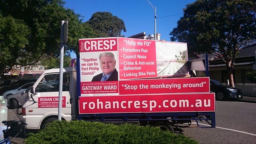
[[[40,122],[45,118],[58,116],[59,77],[59,73],[45,74],[34,85],[36,103],[31,98],[26,103],[26,122],[30,128],[40,128]],[[61,112],[66,120],[71,120],[70,78],[71,72],[63,73]]]

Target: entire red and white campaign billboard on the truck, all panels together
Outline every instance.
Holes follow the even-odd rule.
[[[79,113],[215,111],[210,80],[188,75],[187,44],[80,39]]]

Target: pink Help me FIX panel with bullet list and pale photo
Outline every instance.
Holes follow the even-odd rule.
[[[188,74],[187,44],[118,38],[120,80]]]

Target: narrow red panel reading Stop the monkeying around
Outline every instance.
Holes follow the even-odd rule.
[[[209,77],[119,81],[119,94],[166,94],[194,92],[210,92]]]

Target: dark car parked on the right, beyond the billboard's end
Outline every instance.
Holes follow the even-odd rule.
[[[210,91],[215,93],[216,100],[238,100],[242,99],[242,90],[224,86],[217,80],[210,80]]]

